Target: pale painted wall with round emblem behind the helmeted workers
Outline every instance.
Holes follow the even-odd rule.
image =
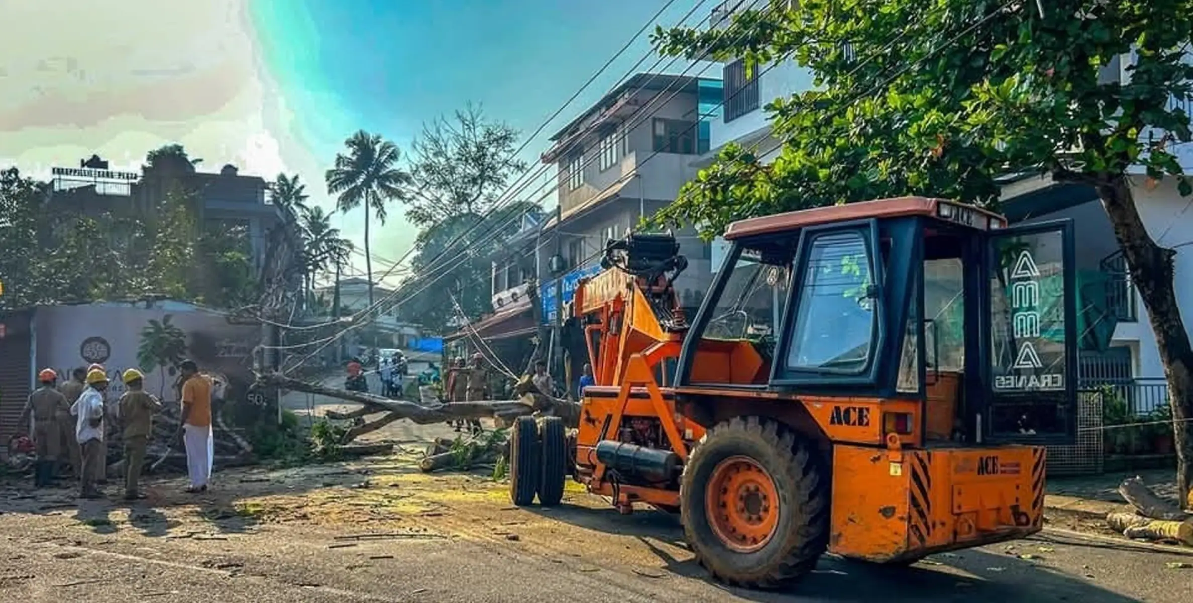
[[[179,327],[185,337],[185,357],[199,370],[222,375],[240,388],[252,380],[252,350],[260,343],[261,328],[229,325],[223,315],[181,303],[157,303],[154,307],[131,304],[56,306],[38,308],[33,316],[37,369],[52,368],[63,379],[76,367],[100,363],[107,369],[111,396],[124,392],[120,375],[125,369],[146,373],[146,389],[166,401],[177,401],[172,392],[177,375],[156,367],[141,367],[137,350],[142,331],[149,320]],[[234,390],[223,392],[224,398]]]

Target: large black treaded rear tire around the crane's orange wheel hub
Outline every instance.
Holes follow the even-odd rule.
[[[719,476],[729,475],[737,466],[753,466],[754,475],[769,481],[764,491],[769,488],[778,502],[775,510],[774,500],[762,505],[756,496],[750,500],[754,510],[766,515],[764,525],[774,522],[769,536],[756,543],[731,543],[718,536],[718,530],[721,534],[730,530],[717,525],[733,522],[728,513],[719,512],[721,503],[725,502],[719,497],[729,496],[729,490],[722,492],[713,480],[728,484]],[[717,491],[710,492],[710,487]],[[749,487],[754,486],[742,492]],[[711,504],[706,505],[706,500]],[[829,510],[828,472],[806,442],[775,422],[746,417],[721,423],[704,436],[684,467],[680,482],[684,535],[700,565],[724,583],[778,589],[806,576],[828,547]],[[773,519],[769,513],[774,513]],[[743,550],[749,547],[755,548]]]

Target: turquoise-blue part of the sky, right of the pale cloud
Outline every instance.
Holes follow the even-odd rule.
[[[663,4],[272,0],[254,5],[252,14],[267,70],[303,116],[292,134],[326,164],[357,128],[406,149],[424,122],[470,100],[530,135]],[[675,23],[691,7],[675,2],[660,21]],[[546,136],[647,51],[644,35],[531,141],[525,158],[533,162]],[[348,217],[346,227],[354,222]],[[395,259],[412,236],[404,224],[392,224],[379,234],[375,254]]]

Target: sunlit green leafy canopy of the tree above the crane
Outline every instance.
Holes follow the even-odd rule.
[[[1193,189],[1168,150],[1193,137],[1169,103],[1191,90],[1193,66],[1180,59],[1193,1],[1061,0],[1044,12],[1002,0],[810,0],[744,11],[724,33],[659,29],[663,54],[740,56],[753,69],[790,57],[816,88],[766,106],[783,142],[772,164],[761,159],[769,147],[730,146],[657,220],[711,236],[742,217],[890,196],[995,205],[1008,173],[1109,186],[1132,164]],[[1132,44],[1130,81],[1100,80]]]

